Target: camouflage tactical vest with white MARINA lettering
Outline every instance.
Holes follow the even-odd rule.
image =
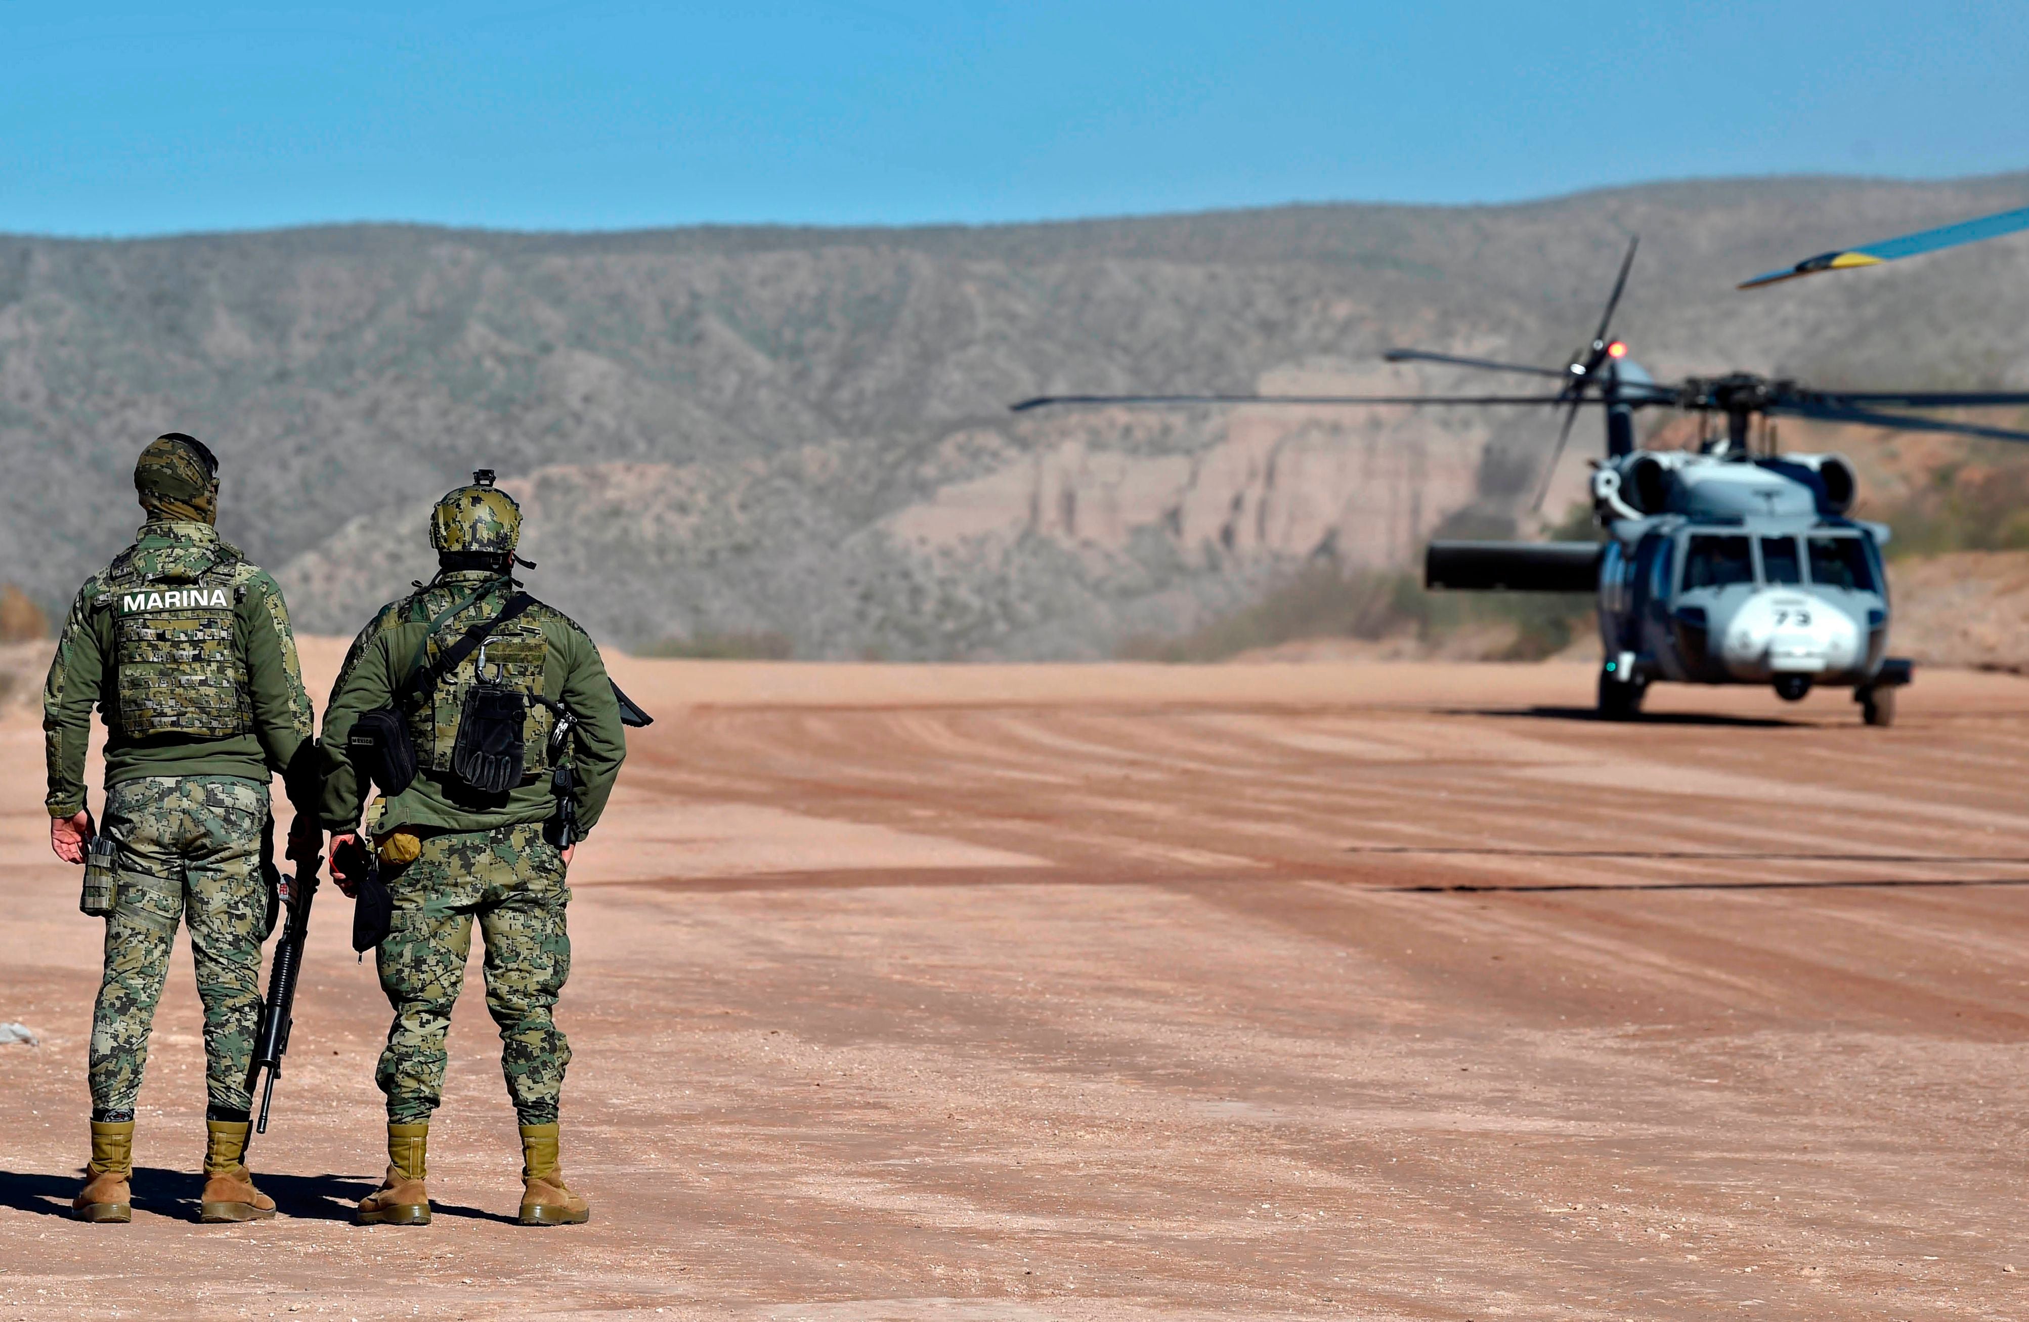
[[[114,688],[128,739],[229,739],[254,729],[248,662],[233,636],[246,595],[225,546],[126,550],[97,603],[114,619]]]

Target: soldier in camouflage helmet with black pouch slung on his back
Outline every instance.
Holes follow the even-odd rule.
[[[552,1007],[570,975],[564,869],[574,845],[558,847],[564,806],[552,796],[552,774],[556,762],[574,772],[566,798],[582,837],[605,808],[627,743],[599,648],[562,611],[517,595],[511,571],[519,532],[521,508],[489,471],[444,495],[430,520],[438,575],[383,607],[359,634],[325,711],[323,820],[333,831],[333,877],[347,894],[357,889],[361,877],[341,875],[341,851],[357,845],[365,810],[363,831],[394,910],[375,952],[381,991],[394,1005],[375,1072],[388,1095],[390,1166],[381,1190],[359,1204],[363,1222],[430,1218],[430,1113],[442,1097],[444,1036],[475,922],[485,940],[501,1072],[521,1123],[521,1225],[588,1218],[584,1200],[558,1172],[558,1101],[570,1046]],[[483,648],[444,668],[457,640],[509,605],[515,613],[485,634]],[[424,674],[436,678],[424,684]],[[517,695],[513,711],[526,711],[526,719],[517,715],[521,764],[493,788],[475,788],[459,770],[459,729],[471,721],[475,686],[509,690]],[[361,713],[390,709],[408,731],[418,770],[406,788],[383,784],[383,796],[367,808],[371,766],[347,743]],[[566,711],[576,727],[552,739]]]

